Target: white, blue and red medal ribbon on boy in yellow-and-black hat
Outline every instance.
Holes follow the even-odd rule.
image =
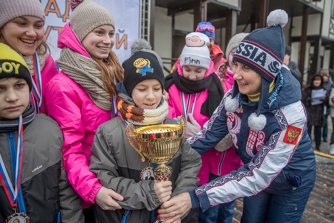
[[[15,188],[13,188],[12,186],[8,172],[5,167],[5,163],[0,154],[0,173],[1,173],[0,181],[8,197],[8,200],[13,208],[17,205],[17,195],[18,195],[18,190],[20,188],[22,155],[23,155],[23,119],[22,119],[22,115],[20,115],[19,116],[19,137],[17,140],[17,152],[16,152],[16,160],[15,160],[16,161],[15,172],[13,170]]]

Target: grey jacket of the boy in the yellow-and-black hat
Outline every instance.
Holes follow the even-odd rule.
[[[17,147],[18,131],[13,136]],[[21,188],[30,222],[56,223],[59,211],[63,223],[84,222],[81,199],[67,182],[62,145],[58,123],[44,114],[36,114],[23,128]],[[13,182],[8,132],[0,133],[0,152]],[[0,222],[4,222],[14,211],[1,183],[0,200]]]

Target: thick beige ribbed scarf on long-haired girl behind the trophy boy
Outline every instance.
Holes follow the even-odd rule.
[[[112,109],[109,92],[104,88],[98,63],[91,58],[64,47],[56,61],[65,74],[85,90],[93,103],[104,111]],[[110,69],[110,75],[114,75]]]

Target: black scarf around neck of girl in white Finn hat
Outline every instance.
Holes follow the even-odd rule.
[[[210,74],[202,80],[190,81],[179,75],[176,70],[165,78],[165,90],[168,91],[172,84],[175,84],[176,88],[185,94],[196,94],[208,89],[208,97],[201,107],[201,114],[208,117],[211,117],[224,97],[223,87],[215,73]]]

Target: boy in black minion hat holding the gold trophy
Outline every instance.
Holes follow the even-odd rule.
[[[142,45],[137,40],[135,42],[138,46]],[[120,116],[100,125],[96,131],[90,170],[96,173],[105,187],[124,197],[123,201],[118,201],[123,207],[120,210],[108,211],[95,205],[97,223],[151,223],[163,202],[198,185],[196,175],[201,164],[200,156],[185,138],[179,152],[168,162],[173,169],[171,178],[162,182],[149,179],[150,174],[147,173],[152,175],[156,164],[147,159],[142,161],[127,139],[125,130],[129,123],[135,128],[175,124],[167,117],[168,103],[162,97],[165,79],[159,59],[154,51],[137,48],[123,62],[124,79],[117,84],[121,98],[118,103]]]

